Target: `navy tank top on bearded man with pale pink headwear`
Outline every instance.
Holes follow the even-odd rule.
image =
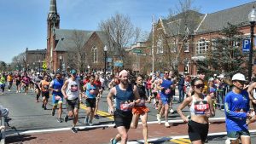
[[[119,88],[119,84],[115,86],[116,89],[116,109],[124,112],[131,112],[132,107],[129,107],[129,103],[134,100],[134,94],[132,84],[129,84],[126,90]]]

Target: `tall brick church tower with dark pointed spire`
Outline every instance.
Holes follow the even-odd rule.
[[[60,28],[60,15],[57,13],[56,0],[50,0],[49,14],[47,17],[47,67],[52,70],[55,60],[54,49],[55,43],[55,29]]]

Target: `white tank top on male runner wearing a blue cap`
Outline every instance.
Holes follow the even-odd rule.
[[[67,100],[74,100],[79,97],[79,80],[72,80],[72,78],[67,79]]]

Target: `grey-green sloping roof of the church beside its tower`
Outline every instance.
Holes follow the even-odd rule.
[[[55,51],[68,51],[77,47],[75,37],[79,44],[84,45],[91,35],[96,31],[82,31],[82,30],[67,30],[67,29],[55,29],[55,39],[58,41]],[[104,36],[104,32],[97,31],[96,34],[101,38],[102,43],[107,44],[107,37]],[[79,40],[78,37],[81,37]]]

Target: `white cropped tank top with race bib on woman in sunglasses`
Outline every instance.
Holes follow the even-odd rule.
[[[203,100],[195,100],[195,96],[192,95],[192,104],[189,107],[191,115],[205,115],[207,111],[209,111],[209,104],[207,101],[207,97]]]

